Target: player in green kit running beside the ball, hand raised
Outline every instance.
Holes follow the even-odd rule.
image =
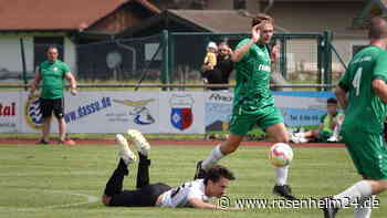
[[[268,44],[273,37],[273,19],[258,14],[252,20],[252,38],[242,40],[232,61],[236,63],[237,85],[230,136],[228,141],[216,146],[202,162],[198,162],[195,178],[201,178],[223,156],[233,153],[244,135],[254,125],[263,128],[275,143],[289,143],[289,134],[283,124],[282,113],[274,106],[270,91],[271,62],[278,56],[278,48],[269,51]],[[286,184],[289,166],[276,168],[273,193],[286,199],[295,199]]]

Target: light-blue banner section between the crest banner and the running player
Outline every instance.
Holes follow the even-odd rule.
[[[206,132],[228,131],[232,113],[232,92],[205,92]]]

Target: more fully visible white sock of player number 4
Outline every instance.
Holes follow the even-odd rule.
[[[370,186],[370,183],[367,180],[360,180],[348,189],[333,197],[334,199],[339,199],[339,201],[335,203],[335,207],[347,207],[358,199],[369,198],[373,194],[372,191],[373,188]]]

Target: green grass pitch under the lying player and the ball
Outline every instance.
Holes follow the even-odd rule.
[[[190,180],[196,162],[211,146],[154,146],[150,181],[178,186]],[[295,148],[290,184],[299,198],[336,194],[359,179],[345,148]],[[220,163],[237,176],[227,196],[236,198],[269,198],[274,184],[274,170],[266,158],[268,147],[245,147]],[[315,208],[245,209],[215,211],[190,208],[124,208],[105,207],[100,197],[111,173],[116,167],[116,146],[0,146],[0,217],[273,217],[321,218]],[[135,186],[136,166],[130,166],[125,188]],[[387,194],[378,197],[380,208],[373,217],[387,217]],[[337,217],[353,217],[353,209],[339,210]]]

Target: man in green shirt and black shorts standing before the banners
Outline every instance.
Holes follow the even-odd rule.
[[[42,62],[36,72],[35,79],[31,84],[31,93],[41,84],[40,111],[43,117],[42,138],[39,144],[49,144],[50,124],[52,112],[54,112],[59,124],[60,144],[73,145],[72,139],[65,138],[66,123],[64,121],[64,100],[63,89],[64,79],[70,83],[71,94],[76,95],[76,81],[70,72],[70,68],[57,59],[57,48],[48,49],[48,60]]]

